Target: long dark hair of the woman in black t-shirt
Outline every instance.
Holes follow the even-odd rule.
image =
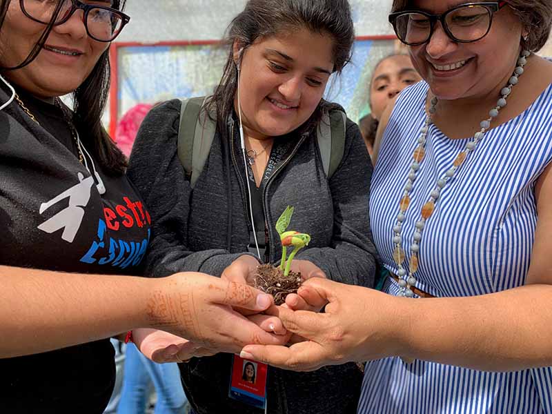
[[[14,0],[15,1],[15,0]],[[113,0],[112,7],[123,10],[126,0]],[[45,26],[41,37],[30,50],[29,55],[17,66],[8,68],[0,66],[0,72],[17,70],[31,63],[39,54],[48,39],[53,23],[61,9],[58,0],[52,20]],[[10,0],[0,0],[0,29],[6,18]],[[117,148],[108,132],[101,125],[101,115],[106,107],[110,85],[109,48],[101,54],[90,75],[73,92],[72,122],[81,133],[86,148],[91,148],[92,155],[110,175],[121,175],[126,170],[126,157]]]

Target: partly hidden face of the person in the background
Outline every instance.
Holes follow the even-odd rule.
[[[422,79],[417,74],[410,57],[395,55],[386,57],[376,66],[370,83],[370,108],[374,119],[380,120],[387,104],[406,86]]]

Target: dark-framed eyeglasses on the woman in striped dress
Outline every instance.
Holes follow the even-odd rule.
[[[427,43],[437,21],[441,22],[444,32],[453,41],[469,43],[480,40],[489,33],[493,14],[506,4],[506,1],[464,3],[442,14],[404,10],[389,14],[389,22],[393,25],[399,40],[409,46]]]

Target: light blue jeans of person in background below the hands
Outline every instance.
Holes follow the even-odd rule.
[[[126,346],[123,390],[117,414],[141,414],[146,410],[150,383],[157,393],[155,414],[184,413],[186,395],[177,364],[156,364],[146,358],[135,344]]]

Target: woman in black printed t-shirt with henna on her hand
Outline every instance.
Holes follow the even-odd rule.
[[[2,412],[101,413],[115,380],[106,338],[129,329],[149,328],[135,342],[165,362],[278,342],[230,307],[270,306],[253,288],[117,276],[137,273],[150,241],[100,122],[123,3],[0,0]],[[69,93],[74,110],[59,100]]]

